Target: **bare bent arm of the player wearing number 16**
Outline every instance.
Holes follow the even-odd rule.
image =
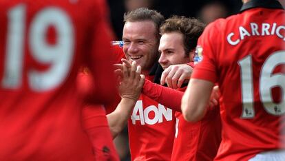
[[[192,78],[182,97],[181,109],[185,120],[196,122],[205,114],[213,83]]]

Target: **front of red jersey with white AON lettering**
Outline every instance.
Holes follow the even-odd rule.
[[[171,159],[176,123],[174,114],[172,109],[140,95],[128,120],[131,160]]]

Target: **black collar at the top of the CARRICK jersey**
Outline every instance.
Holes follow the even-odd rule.
[[[279,1],[275,0],[251,0],[247,3],[244,3],[240,12],[244,12],[245,10],[249,10],[251,8],[275,8],[275,9],[283,9],[282,5]]]

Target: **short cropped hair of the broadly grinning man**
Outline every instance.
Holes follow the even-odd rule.
[[[160,39],[159,27],[162,22],[165,20],[165,17],[162,16],[156,10],[149,10],[147,8],[138,8],[126,12],[124,14],[124,22],[136,22],[136,21],[152,21],[156,25],[156,36]]]

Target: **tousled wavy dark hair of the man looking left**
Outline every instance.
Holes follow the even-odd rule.
[[[173,16],[161,25],[160,34],[179,32],[183,35],[184,51],[187,56],[195,50],[198,38],[204,31],[205,24],[194,18]]]

